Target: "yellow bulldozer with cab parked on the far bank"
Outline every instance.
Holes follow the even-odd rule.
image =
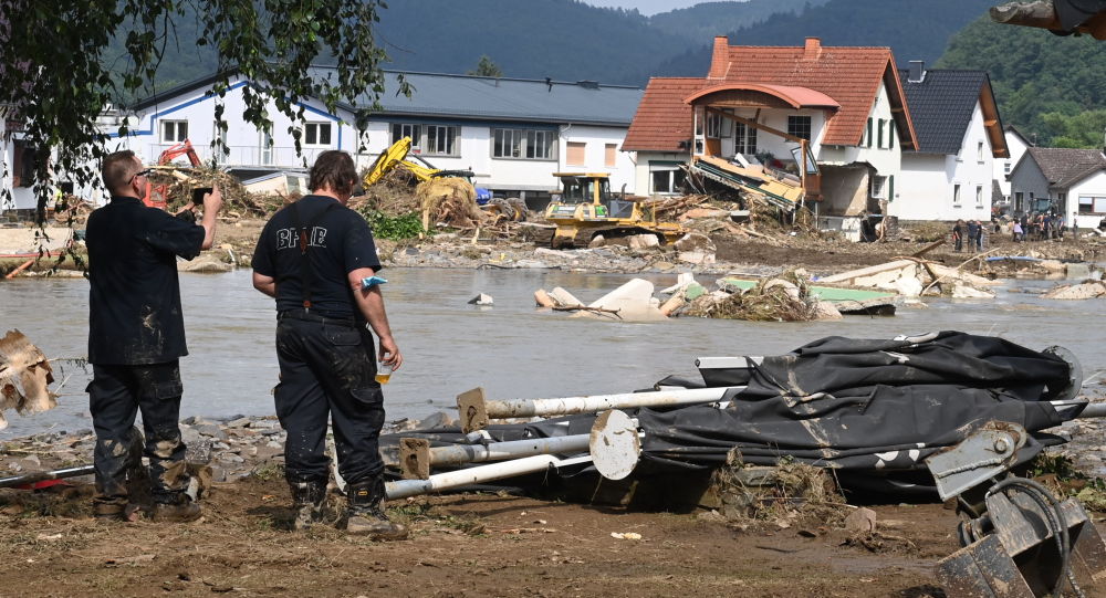
[[[553,249],[587,246],[598,234],[611,239],[630,234],[655,234],[661,243],[675,243],[687,229],[675,222],[657,222],[645,198],[615,195],[606,172],[554,172],[561,179],[560,197],[545,209],[545,219],[556,224]]]

